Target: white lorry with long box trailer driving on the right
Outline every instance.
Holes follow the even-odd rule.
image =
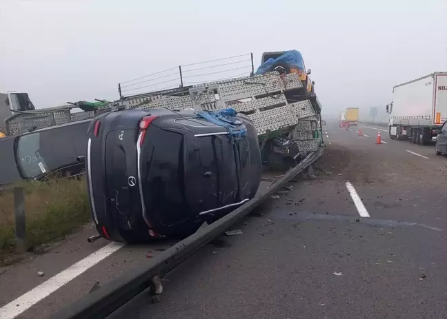
[[[426,145],[447,121],[447,72],[396,85],[386,112],[390,138],[411,138],[412,143]]]

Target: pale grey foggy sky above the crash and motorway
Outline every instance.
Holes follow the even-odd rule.
[[[383,108],[393,85],[447,70],[447,0],[0,0],[0,28],[0,92],[38,108],[250,52],[257,68],[262,52],[299,50],[324,114]]]

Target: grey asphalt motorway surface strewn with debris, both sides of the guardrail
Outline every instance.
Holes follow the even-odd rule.
[[[111,318],[447,318],[447,157],[383,127],[326,129],[315,178],[168,274],[161,302],[143,294]],[[88,244],[91,234],[3,269],[0,318],[45,318],[172,244]]]

